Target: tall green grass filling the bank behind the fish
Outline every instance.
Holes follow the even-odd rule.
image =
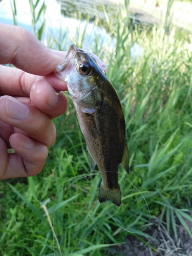
[[[34,32],[39,17],[33,16]],[[156,218],[166,222],[167,231],[173,228],[176,239],[176,221],[192,237],[185,223],[192,221],[192,47],[174,28],[170,34],[155,27],[138,32],[128,24],[121,10],[117,24],[107,25],[113,42],[116,38],[113,48],[103,51],[98,40],[91,44],[108,62],[107,75],[125,116],[131,170],[127,175],[119,166],[121,206],[98,202],[101,175],[90,170],[68,94],[68,110],[54,120],[57,138],[42,172],[0,183],[0,255],[110,255],[108,247],[124,243],[129,234],[147,238]],[[78,47],[83,47],[83,31],[78,38],[69,35]],[[42,35],[41,29],[35,33]],[[63,39],[62,31],[54,40],[50,35],[48,46],[67,50]],[[130,58],[134,42],[143,49],[135,62]]]

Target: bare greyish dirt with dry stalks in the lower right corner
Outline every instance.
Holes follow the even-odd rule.
[[[185,220],[192,231],[192,223]],[[152,250],[134,236],[126,238],[123,245],[110,248],[110,256],[192,256],[192,239],[181,224],[177,225],[178,241],[174,237],[173,230],[168,234],[166,224],[154,224],[147,228],[146,232],[152,239],[145,241],[157,251]],[[109,251],[109,250],[108,250]]]

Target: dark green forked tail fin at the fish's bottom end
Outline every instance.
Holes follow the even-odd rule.
[[[101,184],[99,189],[99,202],[112,201],[113,204],[117,206],[121,205],[121,190],[118,186],[117,188],[109,189],[104,188]]]

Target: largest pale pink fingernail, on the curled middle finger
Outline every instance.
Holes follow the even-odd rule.
[[[8,97],[6,100],[6,110],[9,117],[17,120],[24,120],[29,113],[29,109],[25,104],[12,97]]]

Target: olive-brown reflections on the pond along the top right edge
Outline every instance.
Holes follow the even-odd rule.
[[[89,15],[89,20],[91,22],[95,20],[100,20],[100,23],[98,23],[98,26],[101,26],[102,28],[105,28],[105,31],[109,31],[108,27],[108,20],[112,22],[113,24],[116,23],[118,13],[119,13],[119,5],[122,3],[120,0],[56,0],[58,3],[60,3],[61,7],[61,13],[65,17],[79,17],[81,20],[86,20]],[[129,2],[129,1],[128,1]],[[157,8],[156,8],[157,9]],[[160,15],[159,18],[154,18],[152,13],[143,11],[141,9],[133,8],[131,5],[129,5],[129,17],[130,17],[130,25],[134,26],[136,25],[137,28],[139,27],[142,31],[143,28],[152,28],[154,25],[163,25],[162,17]],[[151,10],[152,12],[152,10]],[[107,16],[107,18],[106,18]],[[173,26],[170,25],[170,28]],[[170,29],[171,31],[171,29]],[[170,32],[169,30],[167,33]],[[150,30],[149,30],[150,32]],[[187,31],[184,28],[179,28],[176,26],[176,34],[178,37],[185,38],[187,41],[189,41],[189,34],[191,31]]]

